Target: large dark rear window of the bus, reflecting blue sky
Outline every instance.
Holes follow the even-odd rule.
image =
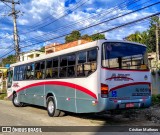
[[[102,66],[115,69],[147,69],[146,47],[132,43],[106,42],[103,44]]]

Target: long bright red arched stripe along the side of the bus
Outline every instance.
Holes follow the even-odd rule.
[[[35,87],[35,86],[40,86],[40,85],[58,85],[58,86],[66,86],[66,87],[70,87],[70,88],[73,88],[73,89],[76,89],[76,90],[79,90],[79,91],[82,91],[88,95],[90,95],[91,97],[97,99],[97,96],[95,93],[91,92],[90,90],[80,86],[80,85],[77,85],[77,84],[74,84],[74,83],[69,83],[69,82],[61,82],[61,81],[47,81],[47,82],[38,82],[38,83],[34,83],[34,84],[30,84],[30,85],[27,85],[25,87],[22,87],[20,88],[19,90],[17,90],[17,92],[20,92],[22,90],[25,90],[27,88],[31,88],[31,87]]]

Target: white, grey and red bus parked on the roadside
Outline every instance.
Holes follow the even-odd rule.
[[[12,64],[8,98],[34,104],[49,116],[149,107],[151,77],[146,46],[98,40]]]

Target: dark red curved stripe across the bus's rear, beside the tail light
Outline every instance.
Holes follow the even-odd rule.
[[[116,86],[116,87],[114,87],[114,88],[110,89],[110,91],[117,90],[117,89],[120,89],[120,88],[123,88],[123,87],[127,87],[127,86],[132,86],[132,85],[141,85],[141,84],[147,84],[147,85],[150,85],[151,83],[149,83],[149,82],[135,82],[135,83],[127,83],[127,84],[123,84],[123,85]]]

